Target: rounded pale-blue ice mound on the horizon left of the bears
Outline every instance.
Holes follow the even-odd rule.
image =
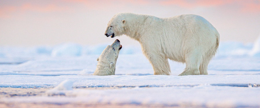
[[[51,56],[81,56],[82,47],[75,43],[62,44],[53,48]]]

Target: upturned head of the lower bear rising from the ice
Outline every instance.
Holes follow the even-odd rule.
[[[97,58],[97,61],[108,64],[110,68],[115,66],[121,48],[122,45],[120,45],[120,41],[116,39],[112,45],[108,45],[105,50],[103,50],[102,54]]]

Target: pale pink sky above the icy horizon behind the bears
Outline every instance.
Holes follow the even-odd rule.
[[[0,46],[38,46],[60,43],[93,45],[107,38],[107,22],[118,12],[171,17],[197,14],[220,33],[220,41],[252,43],[260,33],[260,0],[0,0]]]

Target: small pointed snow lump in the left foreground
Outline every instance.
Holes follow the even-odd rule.
[[[48,96],[53,96],[53,95],[65,95],[65,93],[68,90],[73,90],[72,89],[72,85],[73,85],[74,81],[71,80],[65,80],[63,82],[61,82],[58,86],[56,86],[55,88],[46,91],[46,94]]]

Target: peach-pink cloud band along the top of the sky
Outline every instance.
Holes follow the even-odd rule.
[[[83,6],[82,6],[83,5]],[[0,7],[0,18],[11,17],[14,12],[61,12],[74,10],[82,6],[90,10],[109,11],[113,8],[129,8],[128,6],[145,7],[171,6],[182,7],[192,10],[197,7],[225,7],[226,9],[238,10],[239,12],[260,12],[260,0],[59,0],[59,1],[25,1],[19,3],[3,3]],[[82,8],[81,7],[81,8]],[[134,7],[133,7],[134,8]]]

